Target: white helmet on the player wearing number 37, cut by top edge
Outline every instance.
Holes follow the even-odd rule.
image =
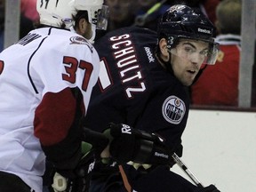
[[[103,24],[108,23],[108,18],[102,18],[103,0],[37,0],[36,9],[43,25],[71,28],[75,25],[74,17],[78,11],[88,12],[88,21],[100,29],[106,29]],[[100,18],[100,22],[98,20]],[[97,24],[101,26],[97,26]]]

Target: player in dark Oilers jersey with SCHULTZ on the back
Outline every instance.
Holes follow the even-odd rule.
[[[181,135],[189,108],[187,88],[203,64],[214,64],[216,60],[214,30],[203,13],[186,5],[174,5],[164,12],[157,33],[146,28],[121,28],[100,38],[94,44],[100,55],[100,76],[92,90],[84,126],[103,132],[109,122],[128,124],[160,135],[164,144],[181,156]],[[143,162],[145,156],[140,149],[148,147],[133,141],[117,139],[116,146],[110,145],[110,154],[112,151],[117,158],[96,164],[91,192],[219,191],[213,185],[197,188],[170,172],[170,164]],[[133,156],[127,155],[129,145],[135,146]],[[151,164],[150,168],[127,164],[134,158]],[[114,166],[115,160],[122,166]]]

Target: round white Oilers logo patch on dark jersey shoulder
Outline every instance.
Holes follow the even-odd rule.
[[[164,119],[171,124],[180,124],[186,113],[186,105],[177,96],[170,96],[164,100],[162,106]]]

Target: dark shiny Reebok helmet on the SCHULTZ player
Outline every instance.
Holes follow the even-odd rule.
[[[209,55],[206,64],[214,64],[218,54],[218,44],[214,42],[216,29],[204,13],[187,5],[175,4],[159,20],[158,40],[165,38],[167,48],[171,50],[179,44],[180,38],[195,39],[209,43]]]

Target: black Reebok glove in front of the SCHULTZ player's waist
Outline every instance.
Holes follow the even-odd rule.
[[[165,164],[172,162],[173,153],[160,136],[133,129],[127,124],[109,124],[110,155],[120,164]]]

